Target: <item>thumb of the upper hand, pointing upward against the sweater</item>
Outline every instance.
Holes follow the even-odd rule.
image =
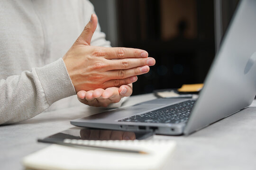
[[[90,45],[91,37],[96,30],[98,23],[97,16],[95,14],[91,14],[91,19],[88,24],[84,27],[81,35],[77,38],[76,42],[79,44]]]

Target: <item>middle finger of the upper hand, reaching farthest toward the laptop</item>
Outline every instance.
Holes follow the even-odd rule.
[[[109,70],[137,68],[140,66],[154,66],[155,59],[152,57],[139,59],[114,59],[109,61]]]

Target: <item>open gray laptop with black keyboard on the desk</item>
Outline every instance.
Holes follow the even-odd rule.
[[[159,98],[72,120],[79,127],[188,135],[248,107],[256,95],[256,0],[242,0],[199,98]]]

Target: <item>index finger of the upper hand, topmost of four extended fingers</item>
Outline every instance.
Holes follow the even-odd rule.
[[[112,47],[104,48],[106,59],[124,59],[124,58],[145,58],[148,57],[148,53],[145,50]]]

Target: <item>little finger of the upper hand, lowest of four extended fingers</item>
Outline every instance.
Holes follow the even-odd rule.
[[[128,78],[124,79],[115,79],[115,80],[109,80],[103,83],[103,85],[108,88],[108,87],[120,87],[121,85],[128,85],[131,83],[134,83],[137,81],[137,76],[131,76]]]

